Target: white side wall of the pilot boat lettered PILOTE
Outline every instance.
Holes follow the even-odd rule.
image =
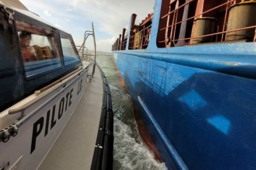
[[[10,165],[7,169],[38,168],[82,98],[87,84],[87,74],[87,70],[84,69],[80,75],[68,80],[65,87],[58,87],[25,110],[25,115],[32,112],[35,114],[19,127],[15,137],[10,137],[6,143],[0,143],[0,168],[8,161]],[[11,120],[13,123],[20,116],[8,115],[5,113],[7,110],[0,115],[1,127],[6,122],[10,125]]]

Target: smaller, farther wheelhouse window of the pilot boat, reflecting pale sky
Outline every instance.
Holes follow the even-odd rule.
[[[60,38],[60,41],[62,42],[64,64],[68,65],[68,64],[72,64],[72,63],[76,63],[77,61],[80,61],[80,57],[75,50],[73,41],[64,36]]]

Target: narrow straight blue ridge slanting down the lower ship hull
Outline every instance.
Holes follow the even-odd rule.
[[[179,169],[187,170],[187,165],[184,163],[184,161],[182,160],[174,146],[171,144],[171,141],[168,140],[168,138],[165,135],[165,132],[163,132],[162,128],[159,126],[151,111],[148,109],[148,107],[146,106],[146,104],[144,103],[140,96],[138,96],[138,101],[140,102],[141,106],[146,112],[146,117],[148,117],[149,121],[151,121],[151,123],[154,124],[155,130],[157,131],[160,140],[164,144],[166,151],[171,156],[171,159],[174,160],[176,166],[179,166]]]

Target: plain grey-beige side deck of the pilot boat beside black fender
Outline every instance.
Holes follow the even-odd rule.
[[[102,78],[96,67],[84,96],[38,169],[90,169],[102,109]]]

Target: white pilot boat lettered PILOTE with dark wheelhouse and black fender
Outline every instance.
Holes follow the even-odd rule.
[[[96,46],[93,55],[84,55],[84,42],[80,58],[69,33],[43,21],[20,1],[1,0],[0,9],[0,169],[58,169],[65,162],[72,165],[83,158],[77,155],[77,147],[79,151],[88,147],[88,153],[80,153],[88,162],[83,164],[83,158],[73,168],[112,169],[113,112],[107,80],[96,67]],[[85,40],[90,35],[95,44],[94,29],[85,32]],[[93,101],[84,94],[93,94]],[[80,126],[73,117],[79,117]],[[85,124],[90,132],[76,135],[76,129],[84,128],[89,118],[94,119]],[[69,129],[65,129],[67,123]],[[84,147],[70,148],[66,139],[58,138],[63,135],[68,135],[71,146],[84,141]],[[65,152],[52,153],[58,144]],[[61,160],[72,153],[74,158]],[[59,165],[45,163],[48,155]]]

